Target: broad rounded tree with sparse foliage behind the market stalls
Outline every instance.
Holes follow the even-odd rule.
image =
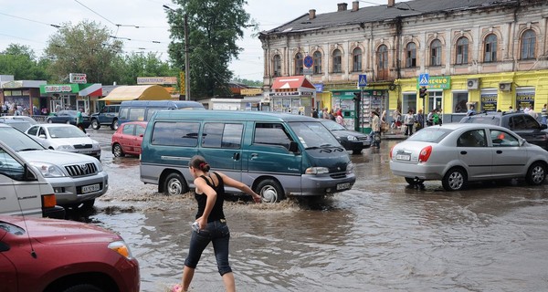
[[[76,26],[64,24],[49,37],[45,53],[52,61],[48,67],[55,82],[68,81],[69,73],[84,73],[89,83],[109,84],[117,80],[116,57],[121,41],[95,22],[84,20]]]

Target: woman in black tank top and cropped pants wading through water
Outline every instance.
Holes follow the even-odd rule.
[[[225,289],[236,291],[234,274],[228,263],[230,231],[223,211],[226,197],[225,185],[250,194],[256,203],[260,203],[261,198],[248,185],[231,179],[222,172],[209,172],[210,166],[202,156],[194,156],[188,163],[188,169],[195,178],[195,200],[198,203],[198,211],[195,215],[188,256],[184,260],[183,283],[174,287],[173,291],[188,290],[198,261],[210,242],[213,243],[217,269],[223,278]]]

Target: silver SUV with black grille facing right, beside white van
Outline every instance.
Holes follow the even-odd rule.
[[[89,208],[109,188],[109,175],[93,157],[47,150],[25,133],[1,123],[0,141],[41,172],[53,187],[57,203],[63,207],[82,204]]]

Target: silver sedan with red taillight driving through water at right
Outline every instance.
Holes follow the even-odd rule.
[[[395,144],[390,169],[412,185],[440,180],[447,191],[499,179],[538,185],[546,178],[548,151],[500,126],[450,123],[419,130]]]

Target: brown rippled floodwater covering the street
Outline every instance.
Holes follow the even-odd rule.
[[[138,158],[112,158],[110,134],[91,133],[102,139],[110,190],[93,214],[76,219],[119,233],[139,260],[142,291],[167,291],[182,275],[194,198],[164,196],[143,184]],[[478,183],[455,193],[439,182],[408,187],[389,169],[387,152],[395,142],[352,155],[358,180],[350,191],[313,201],[227,202],[237,289],[547,289],[548,184]],[[211,246],[191,290],[224,290]]]

